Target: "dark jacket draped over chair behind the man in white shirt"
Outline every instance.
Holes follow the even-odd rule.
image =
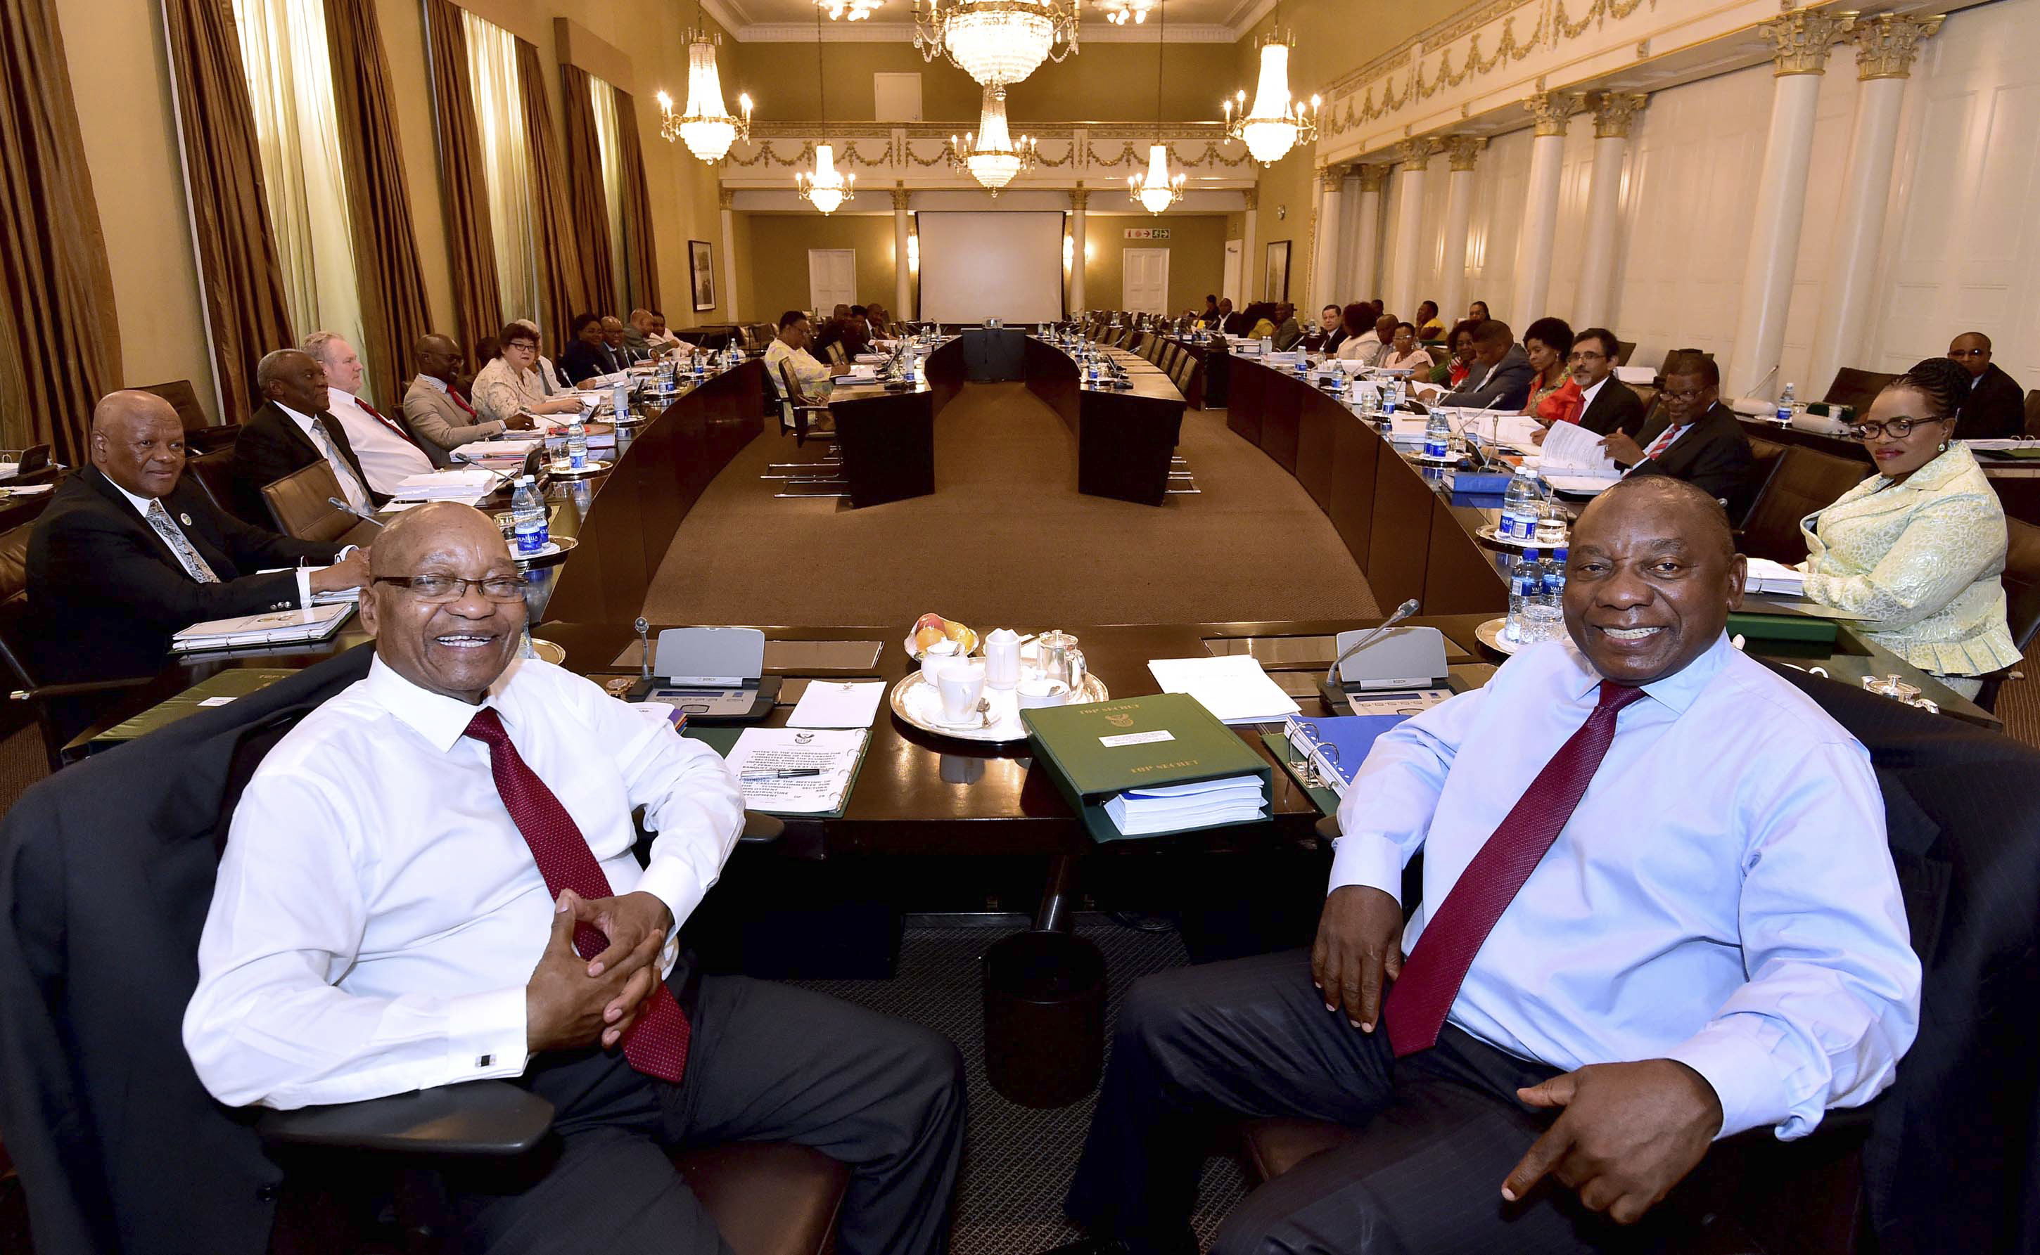
[[[39,1255],[267,1249],[284,1174],[198,1082],[184,1004],[247,750],[371,652],[67,766],[0,823],[0,1127]]]

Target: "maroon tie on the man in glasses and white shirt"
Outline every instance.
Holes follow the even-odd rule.
[[[510,821],[524,833],[530,856],[545,876],[545,888],[559,901],[559,890],[571,888],[583,898],[610,896],[610,878],[602,874],[602,864],[588,848],[588,837],[575,827],[567,807],[559,805],[553,790],[545,786],[539,772],[530,770],[524,758],[510,744],[502,717],[483,707],[467,721],[467,735],[490,748],[490,774],[496,776],[496,793],[510,811]],[[610,947],[610,939],[592,923],[573,927],[573,949],[583,960],[592,960]],[[651,1004],[624,1033],[624,1057],[645,1076],[657,1076],[679,1084],[687,1072],[687,1037],[692,1027],[687,1015],[673,998],[665,982],[653,986]]]

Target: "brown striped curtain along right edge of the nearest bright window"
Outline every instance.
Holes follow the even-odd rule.
[[[333,110],[347,167],[347,208],[355,232],[355,285],[361,295],[361,354],[369,389],[386,407],[404,397],[410,350],[432,324],[410,222],[404,151],[396,137],[390,61],[373,0],[326,0],[333,53]]]

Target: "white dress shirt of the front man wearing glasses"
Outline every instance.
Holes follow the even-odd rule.
[[[496,707],[610,880],[675,925],[743,831],[728,766],[567,670],[514,662]],[[463,735],[477,707],[371,662],[263,758],[235,809],[184,1043],[235,1106],[351,1102],[520,1076],[553,896]],[[632,856],[630,811],[659,833]]]

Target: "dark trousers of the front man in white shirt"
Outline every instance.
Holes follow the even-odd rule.
[[[677,1086],[602,1051],[543,1055],[524,1084],[557,1108],[545,1153],[445,1178],[471,1251],[726,1255],[663,1149],[724,1141],[792,1141],[847,1163],[843,1255],[949,1249],[963,1057],[918,1025],[704,976]]]

